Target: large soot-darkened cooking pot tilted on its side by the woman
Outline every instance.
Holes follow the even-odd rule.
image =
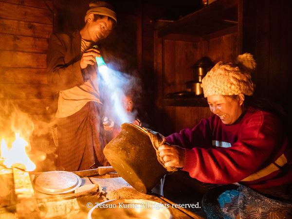
[[[157,161],[156,152],[146,131],[131,123],[104,148],[110,165],[137,191],[147,193],[167,172]]]

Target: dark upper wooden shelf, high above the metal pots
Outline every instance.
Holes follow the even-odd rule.
[[[158,30],[158,37],[183,35],[193,36],[197,40],[214,33],[236,32],[237,21],[238,0],[217,0],[199,11],[165,25]]]

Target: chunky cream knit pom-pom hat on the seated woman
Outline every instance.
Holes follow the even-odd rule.
[[[218,62],[202,79],[204,97],[239,93],[252,96],[255,85],[251,73],[255,69],[256,61],[249,53],[238,55],[235,64]]]

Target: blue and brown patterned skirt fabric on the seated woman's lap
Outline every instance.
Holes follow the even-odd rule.
[[[217,194],[211,190],[204,196],[202,205],[208,219],[292,218],[292,203],[269,199],[244,185],[239,185],[237,189],[225,190],[226,188],[216,188]],[[220,192],[222,193],[217,196]],[[215,196],[210,199],[208,195],[212,193]]]

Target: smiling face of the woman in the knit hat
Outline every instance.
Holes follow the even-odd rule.
[[[243,112],[244,95],[211,95],[207,97],[210,110],[219,116],[225,125],[234,124]]]

